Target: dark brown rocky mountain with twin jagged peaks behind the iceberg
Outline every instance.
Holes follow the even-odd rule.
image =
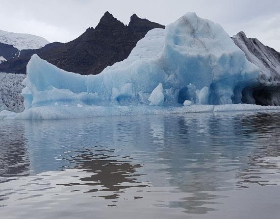
[[[96,28],[88,28],[75,40],[65,44],[51,43],[41,49],[22,50],[18,58],[0,64],[0,72],[26,73],[29,59],[36,53],[68,72],[98,74],[107,66],[126,59],[149,30],[164,27],[135,14],[125,25],[106,12]]]

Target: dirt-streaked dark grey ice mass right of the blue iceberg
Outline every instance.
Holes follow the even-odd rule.
[[[244,51],[246,58],[260,68],[259,83],[251,89],[258,105],[280,105],[280,52],[264,46],[256,38],[246,37],[239,32],[232,37],[234,43]]]

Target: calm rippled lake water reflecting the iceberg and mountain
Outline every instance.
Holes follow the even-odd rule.
[[[0,219],[280,219],[280,112],[0,121]]]

